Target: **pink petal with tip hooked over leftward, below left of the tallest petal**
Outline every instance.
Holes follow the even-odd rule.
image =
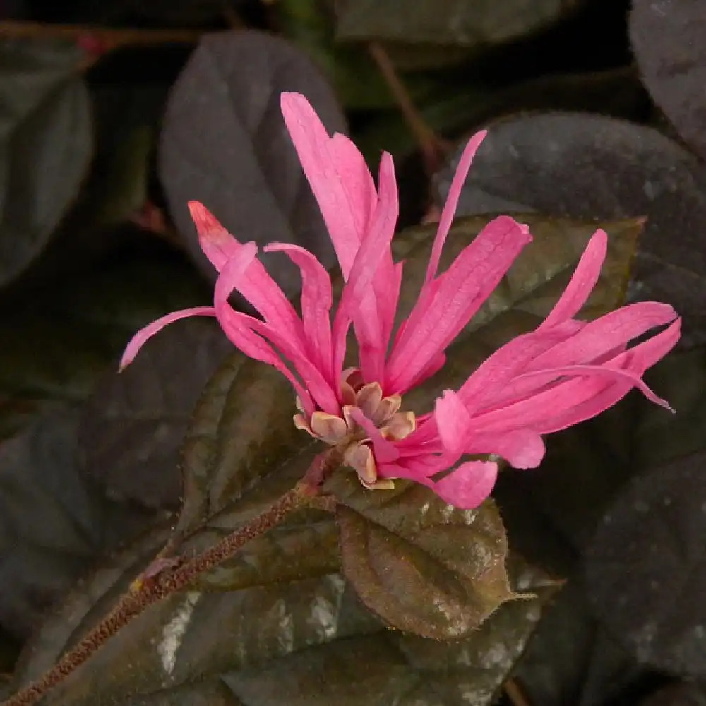
[[[308,250],[287,243],[272,243],[265,251],[287,254],[301,271],[301,318],[311,359],[333,385],[330,309],[333,303],[331,278],[326,268]]]

